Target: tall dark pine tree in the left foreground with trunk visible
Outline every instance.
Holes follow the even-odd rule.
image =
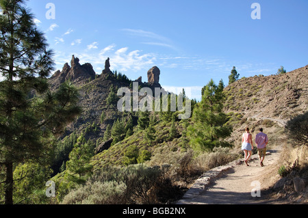
[[[80,113],[77,90],[68,83],[49,92],[53,51],[23,0],[0,1],[0,164],[5,204],[13,204],[13,165],[48,160],[51,136]],[[36,93],[31,98],[30,93]]]

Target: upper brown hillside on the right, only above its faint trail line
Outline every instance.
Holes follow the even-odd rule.
[[[285,74],[243,78],[225,88],[226,111],[244,118],[289,120],[308,109],[308,66]]]

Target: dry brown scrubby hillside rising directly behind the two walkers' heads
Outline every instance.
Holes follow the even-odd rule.
[[[283,134],[287,120],[308,110],[308,66],[264,77],[242,78],[224,89],[224,112],[232,115],[235,144],[240,144],[245,128],[256,133],[259,127]]]

